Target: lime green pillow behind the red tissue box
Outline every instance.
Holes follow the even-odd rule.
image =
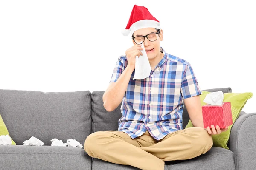
[[[210,92],[208,91],[202,91],[203,94],[200,95],[200,100],[201,100],[201,106],[206,105],[207,103],[203,102],[205,96],[209,94]],[[246,93],[224,93],[224,99],[223,102],[231,102],[231,111],[232,111],[232,119],[233,119],[233,124],[236,121],[236,119],[239,117],[239,114],[244,108],[245,103],[247,102],[248,99],[250,99],[253,96],[253,93],[246,92]],[[227,147],[227,143],[230,138],[230,132],[232,125],[228,127],[228,130],[225,132],[222,132],[221,134],[216,134],[212,135],[212,140],[213,140],[213,147],[223,147],[225,149],[229,149]],[[186,125],[186,128],[189,127],[194,127],[192,125],[191,120],[189,120],[188,125]]]

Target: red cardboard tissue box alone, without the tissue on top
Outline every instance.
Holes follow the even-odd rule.
[[[221,129],[232,125],[231,103],[224,102],[222,105],[204,105],[202,106],[204,128],[211,125],[218,125]]]

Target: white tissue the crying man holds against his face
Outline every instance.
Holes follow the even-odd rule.
[[[140,51],[143,55],[140,57],[135,57],[135,72],[133,79],[145,79],[150,75],[151,72],[151,66],[143,43],[141,47],[143,48],[143,50]]]

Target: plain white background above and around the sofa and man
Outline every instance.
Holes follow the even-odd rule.
[[[0,1],[0,89],[105,91],[132,45],[131,10],[145,6],[163,28],[162,46],[188,61],[201,90],[256,95],[253,0]],[[243,111],[256,112],[256,96]]]

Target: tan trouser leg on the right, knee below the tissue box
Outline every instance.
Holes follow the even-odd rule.
[[[191,127],[168,134],[149,147],[139,147],[163,161],[186,160],[206,153],[212,136],[201,127]]]

